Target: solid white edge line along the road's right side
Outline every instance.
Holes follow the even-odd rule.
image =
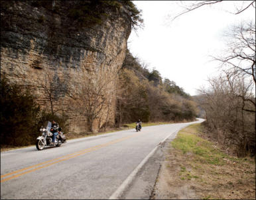
[[[182,127],[183,128],[183,127]],[[180,129],[178,129],[179,131]],[[170,135],[172,135],[173,133],[176,134],[178,133],[178,131],[174,131],[172,133],[170,133]],[[166,139],[168,137],[170,137],[170,135],[168,135],[166,138],[164,138],[160,143],[163,143],[164,141],[166,141]],[[147,160],[149,160],[149,158],[155,153],[155,151],[157,150],[159,146],[157,145],[157,147],[155,147],[153,150],[151,150],[151,152],[141,161],[141,163],[137,166],[137,168],[135,168],[135,170],[133,170],[133,172],[131,172],[131,174],[126,178],[126,180],[121,183],[121,185],[117,188],[117,190],[109,197],[109,199],[118,199],[118,197],[120,197],[123,194],[123,191],[125,191],[125,189],[129,186],[129,184],[133,181],[133,179],[135,178],[136,174],[139,172],[139,170],[143,167],[143,165],[147,162]]]

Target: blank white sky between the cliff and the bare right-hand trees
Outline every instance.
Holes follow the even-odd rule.
[[[131,32],[128,48],[150,70],[155,67],[162,78],[195,95],[196,89],[208,84],[208,77],[218,73],[218,63],[210,61],[210,55],[218,55],[225,48],[222,34],[227,27],[241,20],[255,20],[255,9],[239,15],[226,12],[235,12],[237,2],[242,1],[201,7],[170,23],[168,15],[183,11],[180,1],[133,1],[142,10],[145,27],[137,34]]]

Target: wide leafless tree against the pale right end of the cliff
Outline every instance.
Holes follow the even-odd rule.
[[[96,132],[94,128],[96,120],[102,118],[104,114],[109,115],[111,96],[115,94],[116,76],[113,74],[101,68],[92,73],[80,71],[76,76],[80,88],[74,95],[72,106],[75,112],[87,118],[92,133]],[[106,116],[106,123],[108,119],[109,116]]]

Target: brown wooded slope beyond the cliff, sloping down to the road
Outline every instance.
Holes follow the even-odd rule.
[[[183,121],[197,116],[196,103],[174,81],[149,71],[127,50],[117,84],[116,122]]]

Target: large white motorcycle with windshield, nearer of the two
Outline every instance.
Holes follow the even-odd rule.
[[[40,128],[40,132],[42,132],[42,136],[36,138],[36,149],[42,150],[44,147],[60,147],[62,143],[66,143],[66,136],[62,133],[61,129],[58,131],[58,135],[56,136],[55,141],[53,139],[52,131],[52,123],[48,121],[46,127]],[[53,142],[53,144],[52,144]]]

